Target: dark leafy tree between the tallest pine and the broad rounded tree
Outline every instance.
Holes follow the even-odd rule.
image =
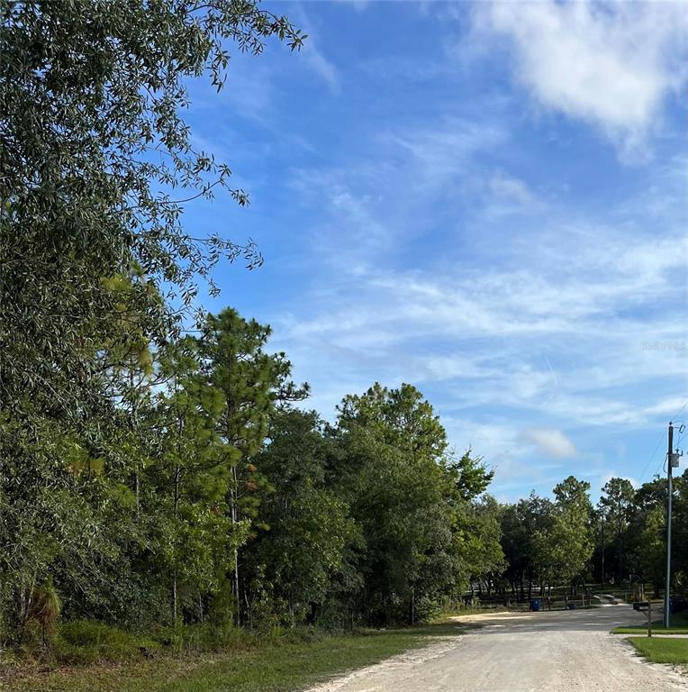
[[[348,505],[326,486],[321,428],[313,412],[277,412],[270,443],[255,460],[270,484],[261,503],[267,530],[244,556],[255,624],[267,616],[315,622],[328,605],[325,617],[345,624],[344,607],[333,601],[359,586],[348,557],[360,533]]]

